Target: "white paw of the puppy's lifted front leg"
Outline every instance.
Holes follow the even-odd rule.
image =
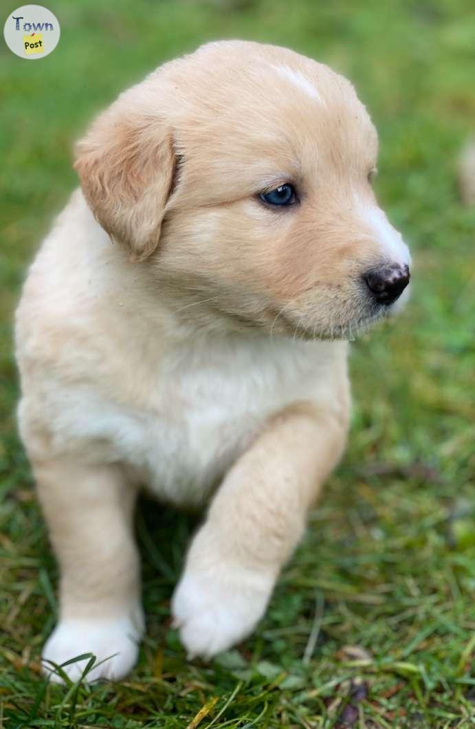
[[[188,658],[211,658],[246,638],[264,615],[273,574],[227,567],[187,569],[173,595],[173,622]]]

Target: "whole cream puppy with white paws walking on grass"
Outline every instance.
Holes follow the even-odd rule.
[[[409,279],[376,157],[348,81],[237,41],[161,66],[79,143],[82,190],[17,311],[20,431],[61,573],[44,659],[133,668],[142,485],[210,502],[173,596],[188,654],[262,617],[345,444],[345,339]]]

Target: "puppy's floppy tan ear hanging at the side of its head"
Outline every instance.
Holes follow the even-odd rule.
[[[175,160],[170,130],[156,114],[117,105],[76,145],[82,190],[104,230],[144,260],[157,248]]]

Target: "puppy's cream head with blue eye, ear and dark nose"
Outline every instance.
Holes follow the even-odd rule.
[[[348,81],[283,48],[219,42],[119,97],[76,168],[98,221],[184,316],[326,338],[384,316],[409,281],[376,164]]]

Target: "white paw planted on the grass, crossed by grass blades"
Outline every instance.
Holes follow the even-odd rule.
[[[116,620],[63,620],[47,640],[42,652],[44,674],[50,675],[55,683],[63,683],[63,679],[55,673],[48,660],[58,666],[66,660],[76,658],[83,653],[95,655],[95,665],[87,673],[85,681],[98,679],[118,681],[125,677],[136,664],[138,642],[141,628],[128,618]],[[79,660],[64,666],[62,669],[72,681],[77,681],[87,666],[89,659]],[[98,665],[100,663],[100,665]]]

